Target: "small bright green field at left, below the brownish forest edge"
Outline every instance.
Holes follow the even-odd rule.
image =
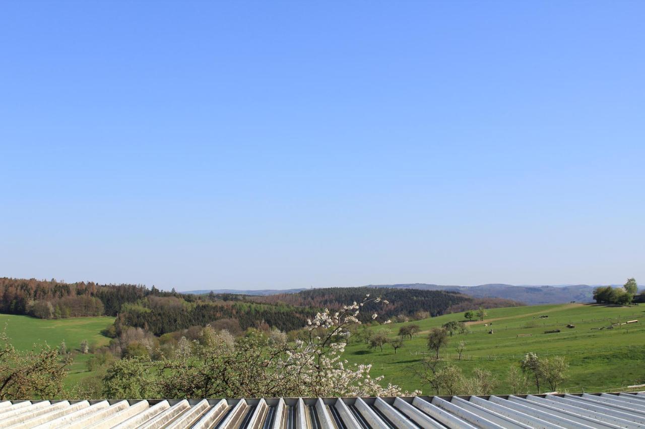
[[[87,340],[90,345],[100,347],[110,342],[101,335],[101,330],[114,323],[112,317],[70,318],[45,320],[15,314],[0,314],[0,326],[6,326],[6,333],[17,350],[30,350],[34,344],[47,343],[58,347],[63,339],[68,350],[78,349],[81,341]],[[76,354],[70,367],[66,386],[73,386],[77,381],[89,376],[86,361],[92,354]]]

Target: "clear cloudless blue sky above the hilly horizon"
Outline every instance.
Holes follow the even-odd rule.
[[[642,1],[8,1],[0,276],[645,282]]]

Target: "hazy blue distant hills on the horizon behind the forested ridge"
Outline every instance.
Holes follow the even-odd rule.
[[[455,291],[470,295],[475,298],[504,298],[519,301],[527,305],[560,304],[570,301],[591,302],[593,289],[597,285],[505,285],[491,283],[478,286],[435,285],[428,283],[399,283],[395,285],[367,285],[366,287],[388,289],[419,289],[421,291]],[[309,288],[300,289],[264,289],[261,291],[236,291],[234,289],[213,289],[215,294],[244,294],[253,296],[270,296],[277,294],[292,294],[308,291]],[[315,290],[315,289],[314,289]],[[207,294],[210,291],[188,291],[186,294]]]

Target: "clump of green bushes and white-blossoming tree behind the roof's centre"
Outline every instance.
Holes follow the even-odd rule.
[[[341,310],[325,309],[307,321],[303,339],[275,341],[252,332],[234,343],[211,327],[194,347],[182,342],[172,359],[123,359],[104,379],[108,397],[287,397],[287,396],[401,396],[398,386],[381,385],[370,376],[371,365],[348,365],[342,359],[351,329],[362,307],[383,302],[369,295]],[[384,321],[388,323],[388,321]],[[159,377],[163,374],[163,377]],[[413,392],[412,395],[419,392]]]

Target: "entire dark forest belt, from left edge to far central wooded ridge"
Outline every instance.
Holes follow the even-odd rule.
[[[388,303],[370,301],[365,310],[379,310],[386,318],[421,319],[482,305],[482,300],[459,292],[417,289],[332,287],[272,296],[195,295],[133,284],[0,278],[0,312],[42,319],[116,316],[113,334],[117,336],[127,327],[161,336],[217,321],[239,332],[249,328],[288,332],[301,329],[317,312],[340,309],[368,294]],[[519,305],[497,298],[486,299],[483,304],[488,308]]]

